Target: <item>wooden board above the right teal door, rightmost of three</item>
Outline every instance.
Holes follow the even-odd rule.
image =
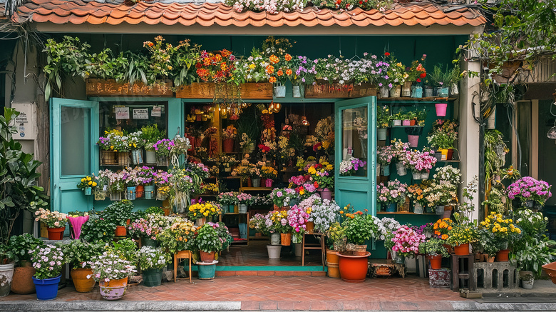
[[[373,84],[313,84],[305,86],[307,99],[353,99],[364,96],[376,96]]]

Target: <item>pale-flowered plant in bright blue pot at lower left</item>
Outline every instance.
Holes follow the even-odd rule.
[[[64,256],[62,249],[53,245],[38,248],[33,253],[33,283],[38,300],[52,300],[58,296],[58,283],[62,276]]]

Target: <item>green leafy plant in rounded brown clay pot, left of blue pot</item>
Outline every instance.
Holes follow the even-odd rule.
[[[35,292],[35,284],[32,278],[35,268],[31,266],[31,254],[29,252],[44,246],[43,241],[34,238],[29,233],[11,236],[8,248],[14,254],[14,260],[16,261],[14,278],[11,281],[11,291],[20,295]]]

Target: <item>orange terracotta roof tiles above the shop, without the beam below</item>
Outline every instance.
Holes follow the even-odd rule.
[[[430,2],[396,4],[393,9],[381,12],[356,8],[338,13],[329,9],[305,8],[301,12],[236,12],[222,3],[186,4],[142,1],[134,6],[106,4],[89,0],[29,0],[19,7],[19,21],[27,19],[53,24],[165,24],[184,26],[407,26],[421,25],[470,25],[485,24],[485,18],[476,9],[461,7],[443,11],[450,6]]]

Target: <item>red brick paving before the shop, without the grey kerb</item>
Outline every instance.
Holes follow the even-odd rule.
[[[212,281],[181,279],[158,287],[130,286],[121,301],[241,301],[242,310],[444,310],[449,301],[466,300],[448,288],[431,288],[428,279],[367,278],[346,283],[336,278],[311,276],[227,276]],[[56,301],[102,301],[98,286],[77,293],[71,284]],[[36,301],[16,295],[0,301]]]

